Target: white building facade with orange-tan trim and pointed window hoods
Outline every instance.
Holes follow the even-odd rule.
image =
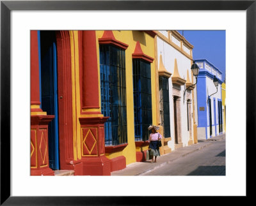
[[[197,142],[193,45],[177,31],[156,32],[159,124],[164,138],[168,138],[168,147],[175,150]]]

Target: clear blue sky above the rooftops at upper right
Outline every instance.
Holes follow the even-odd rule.
[[[182,34],[182,31],[179,31]],[[194,46],[193,59],[207,59],[226,73],[226,32],[224,30],[183,30],[183,36]]]

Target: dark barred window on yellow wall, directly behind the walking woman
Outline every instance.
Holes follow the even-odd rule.
[[[150,63],[132,60],[134,135],[136,141],[148,140],[148,126],[152,124],[152,92]]]

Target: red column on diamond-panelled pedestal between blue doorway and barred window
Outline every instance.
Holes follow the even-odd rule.
[[[111,161],[105,156],[104,122],[108,117],[103,117],[99,110],[99,71],[97,64],[97,48],[95,31],[83,31],[82,55],[83,78],[82,108],[93,109],[96,112],[82,112],[90,117],[80,117],[81,124],[81,162],[83,175],[110,175]]]

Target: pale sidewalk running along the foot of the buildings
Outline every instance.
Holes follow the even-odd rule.
[[[127,165],[126,168],[124,168],[123,170],[111,172],[111,175],[112,176],[114,175],[134,176],[134,175],[142,175],[144,173],[151,172],[152,170],[155,170],[156,168],[166,165],[167,163],[170,163],[175,159],[184,157],[190,154],[191,152],[195,152],[204,147],[207,147],[211,145],[214,141],[224,140],[225,136],[226,136],[225,134],[222,134],[220,136],[214,136],[212,138],[209,138],[208,140],[198,140],[198,143],[195,143],[188,147],[182,147],[182,148],[176,149],[175,151],[172,151],[169,154],[164,154],[163,156],[157,157],[157,163],[150,163],[150,161],[131,163],[130,165]]]

